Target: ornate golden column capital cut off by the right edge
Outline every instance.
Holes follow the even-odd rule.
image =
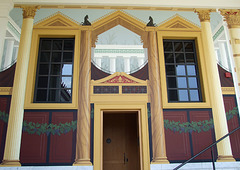
[[[220,9],[228,28],[240,28],[240,9]]]

